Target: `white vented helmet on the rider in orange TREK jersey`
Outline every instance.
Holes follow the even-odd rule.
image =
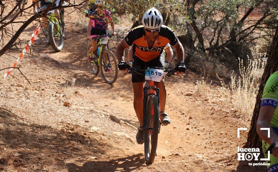
[[[142,24],[148,29],[158,29],[163,23],[162,15],[156,8],[149,9],[142,18]]]

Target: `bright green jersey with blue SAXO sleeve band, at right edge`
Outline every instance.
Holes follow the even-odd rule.
[[[264,92],[261,98],[261,107],[272,106],[276,108],[277,103],[278,103],[278,71],[272,73],[268,78],[268,80],[266,81]],[[278,127],[278,108],[275,109],[270,125],[273,127]]]

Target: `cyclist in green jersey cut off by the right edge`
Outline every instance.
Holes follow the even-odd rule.
[[[271,74],[268,78],[263,90],[261,98],[261,109],[257,121],[256,131],[262,139],[262,148],[265,150],[272,144],[276,146],[272,149],[270,154],[270,163],[267,166],[268,171],[278,171],[278,71]],[[261,128],[270,129],[270,137],[268,137],[267,130],[261,130]],[[267,153],[265,157],[268,156]]]

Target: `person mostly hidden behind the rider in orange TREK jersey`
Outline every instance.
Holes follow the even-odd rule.
[[[168,43],[168,44],[164,47],[163,51],[164,51],[164,53],[166,53],[166,57],[165,57],[165,60],[164,60],[165,67],[169,67],[169,66],[170,66],[170,62],[171,62],[171,60],[172,60],[172,58],[173,58],[173,55],[174,55],[173,50],[172,50],[172,48],[171,48],[171,45]],[[132,56],[133,56],[133,47],[131,46],[131,47],[129,48],[128,52],[127,52],[127,58],[128,58],[128,61],[129,61],[129,62],[128,62],[128,65],[129,65],[130,67],[132,67],[132,63],[133,63],[133,58],[132,58]]]

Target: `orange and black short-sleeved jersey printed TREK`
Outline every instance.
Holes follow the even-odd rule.
[[[172,46],[178,43],[178,38],[173,30],[164,25],[161,26],[156,41],[151,49],[148,47],[143,26],[133,28],[124,40],[128,46],[133,45],[134,55],[145,62],[160,56],[167,43],[170,43]]]

